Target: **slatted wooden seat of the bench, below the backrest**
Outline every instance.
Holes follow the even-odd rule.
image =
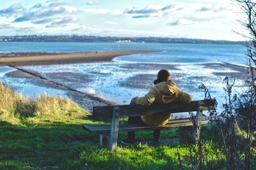
[[[209,123],[209,120],[202,120],[202,124]],[[124,131],[133,131],[133,130],[154,130],[159,128],[171,128],[171,127],[188,127],[193,126],[193,123],[191,120],[173,120],[169,121],[164,126],[150,126],[150,125],[140,125],[136,123],[123,123],[119,125],[118,131],[124,132]],[[110,131],[111,124],[105,124],[105,125],[83,125],[82,126],[85,130],[93,133],[106,133]]]

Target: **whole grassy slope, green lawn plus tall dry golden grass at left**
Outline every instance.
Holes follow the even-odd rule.
[[[99,135],[81,128],[102,122],[90,120],[73,102],[48,96],[33,101],[1,84],[0,92],[0,169],[179,169],[177,151],[185,162],[182,166],[189,168],[187,146],[140,144],[108,151],[100,148]],[[209,133],[209,128],[203,129]],[[119,140],[125,137],[125,133],[118,135]],[[150,140],[152,132],[138,132],[137,136]],[[163,130],[161,138],[169,137],[177,137],[175,129]],[[213,150],[212,144],[207,151],[209,162],[214,162],[220,151]],[[223,155],[220,158],[224,160]]]

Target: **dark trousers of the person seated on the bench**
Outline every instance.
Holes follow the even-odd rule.
[[[145,125],[143,123],[143,121],[141,120],[140,116],[129,117],[128,118],[128,123],[138,123],[138,124],[141,124],[141,125]],[[154,135],[154,141],[155,142],[159,141],[160,132],[161,132],[160,129],[154,130],[153,135]],[[127,139],[131,142],[134,142],[135,141],[135,131],[127,132]]]

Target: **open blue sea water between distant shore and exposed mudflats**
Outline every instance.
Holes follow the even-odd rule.
[[[160,50],[148,54],[122,56],[115,61],[147,63],[202,63],[221,61],[246,64],[243,45],[188,43],[77,43],[77,42],[0,42],[4,52],[95,52],[120,50]]]

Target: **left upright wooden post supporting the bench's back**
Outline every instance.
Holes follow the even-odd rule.
[[[111,125],[110,138],[109,138],[109,150],[115,150],[117,147],[119,111],[120,111],[119,107],[116,107],[116,106],[113,107],[113,118],[112,118],[112,125]]]

